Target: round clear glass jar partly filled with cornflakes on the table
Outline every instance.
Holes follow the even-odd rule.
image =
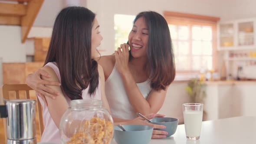
[[[64,144],[110,144],[113,119],[100,100],[73,100],[59,124]]]

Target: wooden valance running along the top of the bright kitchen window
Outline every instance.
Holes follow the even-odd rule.
[[[193,18],[198,20],[208,20],[213,22],[217,22],[220,20],[219,17],[203,16],[203,15],[190,14],[190,13],[178,13],[178,12],[170,12],[170,11],[164,11],[164,16],[186,17],[186,18]]]

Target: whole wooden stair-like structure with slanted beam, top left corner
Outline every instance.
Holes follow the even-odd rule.
[[[0,0],[0,25],[21,26],[25,43],[44,0]]]

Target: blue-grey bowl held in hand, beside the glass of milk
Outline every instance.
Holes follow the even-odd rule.
[[[177,118],[157,117],[152,118],[151,121],[152,122],[149,123],[165,125],[165,129],[156,128],[155,130],[167,131],[168,134],[166,135],[166,137],[171,137],[171,135],[173,135],[177,130],[179,120]]]

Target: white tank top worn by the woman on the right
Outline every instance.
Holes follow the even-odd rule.
[[[151,92],[150,83],[150,80],[137,83],[144,98],[148,98],[148,94]],[[105,93],[112,116],[122,119],[134,119],[138,117],[125,92],[125,85],[116,64],[105,82]]]

